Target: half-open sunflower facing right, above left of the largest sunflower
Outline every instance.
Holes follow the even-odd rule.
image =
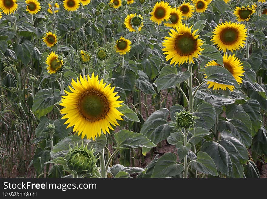
[[[46,58],[48,73],[57,73],[63,69],[63,60],[59,59],[59,56],[55,52],[51,52]]]

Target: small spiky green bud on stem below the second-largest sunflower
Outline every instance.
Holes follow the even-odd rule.
[[[198,117],[193,116],[192,113],[189,111],[181,111],[180,113],[175,112],[175,118],[176,118],[176,129],[185,128],[188,129],[189,127],[192,127],[195,123],[195,119]]]

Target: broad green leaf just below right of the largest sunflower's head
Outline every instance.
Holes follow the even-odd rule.
[[[134,133],[129,130],[120,130],[114,134],[117,142],[117,149],[131,149],[138,147],[152,148],[156,147],[145,135],[141,133]]]

